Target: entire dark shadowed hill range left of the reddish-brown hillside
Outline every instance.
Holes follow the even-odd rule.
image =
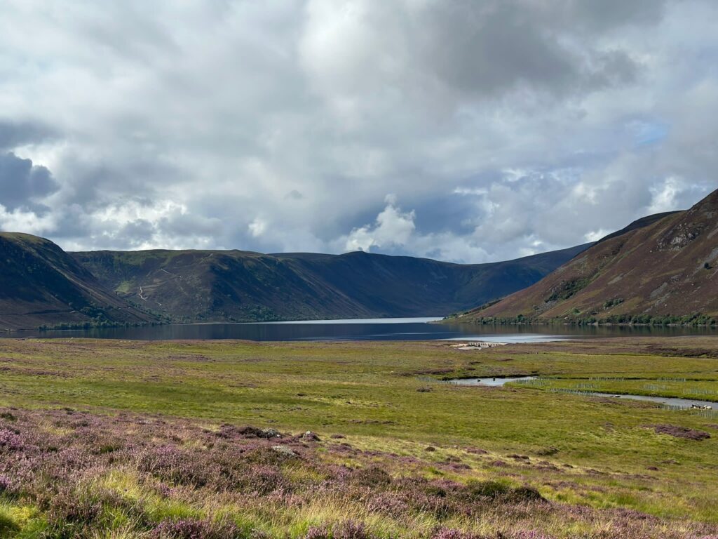
[[[442,316],[533,284],[587,245],[492,264],[353,252],[66,253],[0,234],[0,331],[158,321]]]

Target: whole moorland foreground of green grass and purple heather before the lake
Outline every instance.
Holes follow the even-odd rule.
[[[1,340],[0,536],[718,536],[717,419],[438,381],[711,390],[716,351],[709,337],[482,351]]]

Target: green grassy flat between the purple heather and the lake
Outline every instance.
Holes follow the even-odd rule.
[[[663,344],[668,342],[686,350],[716,349],[709,337]],[[548,387],[596,384],[595,391],[718,400],[709,399],[718,390],[718,359],[658,355],[657,344],[624,338],[460,351],[441,343],[7,339],[0,340],[0,405],[127,410],[208,426],[314,430],[323,437],[341,433],[359,449],[415,456],[426,462],[421,473],[429,476],[498,478],[532,484],[556,502],[718,522],[718,420],[643,402],[559,394],[543,385],[456,387],[439,381],[540,374],[556,377]],[[688,441],[646,428],[656,423],[705,430],[712,438]],[[428,445],[437,451],[427,453]],[[472,448],[488,453],[467,451]],[[530,464],[516,454],[529,456]],[[448,457],[471,469],[431,471]],[[505,466],[497,468],[495,461]],[[127,482],[123,488],[132,492],[131,480],[121,474],[107,482]],[[153,503],[157,512],[185,510]],[[257,518],[278,517],[270,513]],[[14,525],[11,515],[0,506],[0,537],[3,526]]]

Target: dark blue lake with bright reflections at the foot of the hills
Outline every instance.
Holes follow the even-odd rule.
[[[433,323],[440,318],[360,318],[259,323],[200,323],[65,331],[0,333],[4,337],[164,339],[247,339],[250,341],[558,341],[631,335],[716,335],[708,328],[628,326],[477,326]]]

